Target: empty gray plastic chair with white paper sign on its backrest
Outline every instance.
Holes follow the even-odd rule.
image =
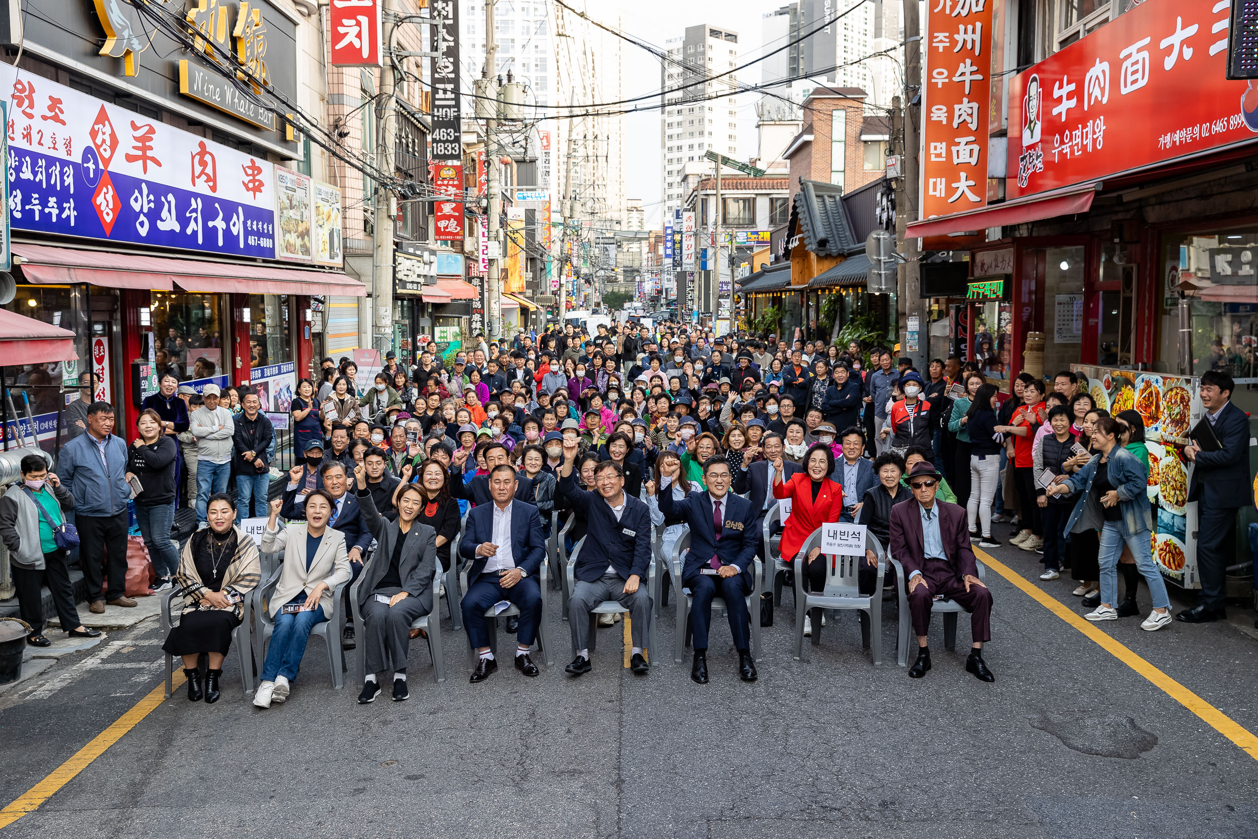
[[[825,589],[820,592],[804,591],[804,557],[813,552],[814,547],[821,543],[821,530],[818,528],[804,542],[804,547],[795,555],[795,660],[808,660],[804,658],[804,618],[810,610],[835,609],[855,610],[862,613],[860,618],[860,643],[871,650],[874,664],[882,664],[882,577],[887,570],[887,556],[878,543],[878,538],[866,531],[866,550],[872,550],[878,556],[878,580],[874,584],[872,595],[860,594],[859,575],[860,566],[864,565],[864,556],[834,556],[830,561],[830,570],[825,577]],[[823,555],[830,556],[830,555]],[[903,574],[903,570],[899,571]],[[901,610],[899,629],[903,630],[903,618],[907,609]],[[814,615],[813,620],[813,647],[821,643],[820,615]],[[897,647],[906,645],[897,634]]]

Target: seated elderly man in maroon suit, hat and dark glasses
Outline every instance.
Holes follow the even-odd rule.
[[[928,460],[918,463],[908,473],[915,501],[891,508],[891,553],[908,575],[908,609],[917,633],[917,660],[908,675],[920,679],[931,669],[931,650],[926,647],[931,604],[935,597],[947,597],[970,613],[974,648],[965,662],[966,672],[982,682],[995,682],[982,660],[982,644],[991,640],[991,592],[979,581],[965,509],[935,498],[940,477]]]

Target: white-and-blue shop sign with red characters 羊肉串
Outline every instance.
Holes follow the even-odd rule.
[[[13,229],[274,259],[265,160],[8,64],[0,87]]]

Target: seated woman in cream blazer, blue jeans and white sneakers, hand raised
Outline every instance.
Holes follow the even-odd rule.
[[[262,684],[253,696],[259,708],[288,698],[289,683],[297,678],[311,629],[332,618],[336,608],[332,592],[351,576],[345,535],[327,526],[336,502],[326,489],[316,489],[306,497],[304,522],[291,522],[277,530],[279,507],[279,498],[270,502],[270,518],[262,536],[262,550],[267,553],[283,551],[284,565],[267,606],[276,629],[262,668]]]

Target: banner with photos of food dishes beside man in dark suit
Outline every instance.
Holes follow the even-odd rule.
[[[1149,449],[1149,502],[1154,506],[1151,548],[1162,576],[1185,589],[1199,589],[1196,571],[1198,504],[1189,502],[1193,462],[1184,457],[1189,430],[1201,419],[1200,380],[1194,376],[1071,365],[1087,382],[1096,408],[1116,416],[1140,414]]]

